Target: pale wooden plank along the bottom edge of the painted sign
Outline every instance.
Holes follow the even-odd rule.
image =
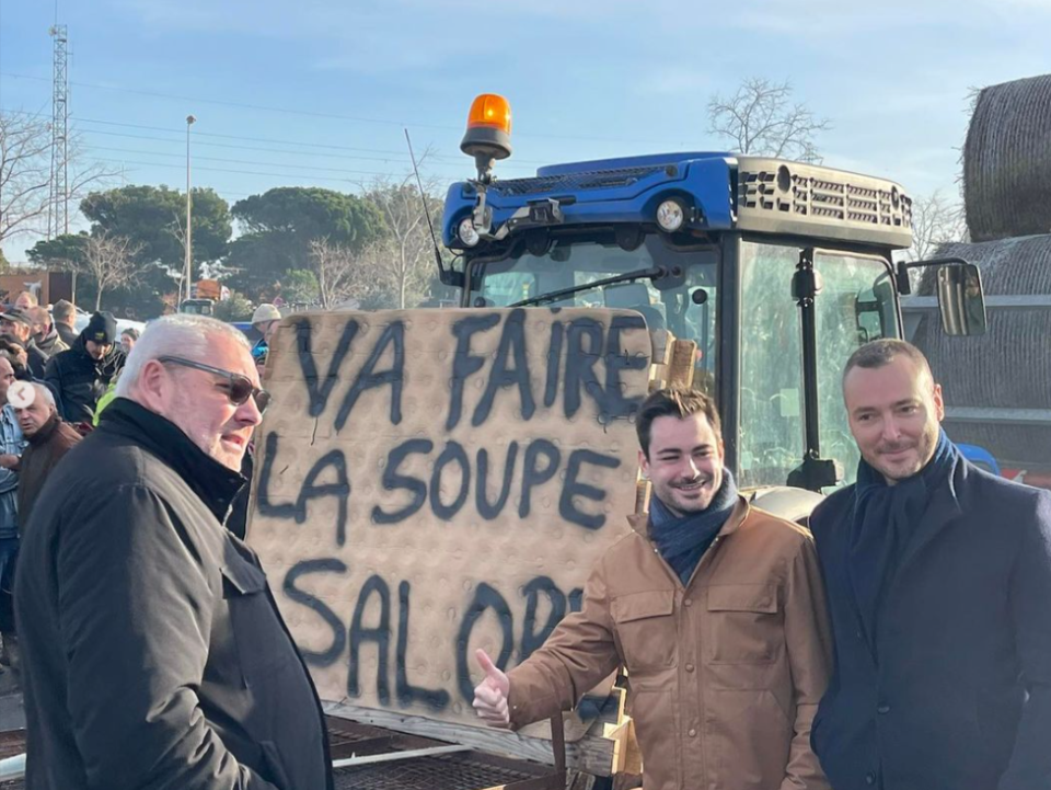
[[[464,726],[453,722],[434,721],[421,717],[406,715],[378,708],[361,708],[343,702],[324,703],[325,713],[399,732],[409,732],[425,737],[472,746],[481,752],[505,754],[554,765],[551,742],[538,737],[524,737],[506,730]],[[573,770],[594,776],[610,776],[613,765],[613,742],[601,735],[588,735],[566,744],[566,764]]]

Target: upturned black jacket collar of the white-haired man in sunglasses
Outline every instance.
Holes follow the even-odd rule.
[[[190,442],[175,423],[127,398],[115,398],[106,407],[99,431],[129,438],[157,456],[189,485],[220,524],[246,482]]]

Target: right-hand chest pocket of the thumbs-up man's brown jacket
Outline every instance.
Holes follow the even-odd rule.
[[[779,656],[784,628],[774,585],[712,585],[707,612],[709,664],[772,664]]]

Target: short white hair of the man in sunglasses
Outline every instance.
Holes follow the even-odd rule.
[[[219,337],[236,343],[246,352],[252,351],[249,339],[241,330],[207,316],[178,313],[150,321],[128,354],[128,360],[117,379],[117,397],[129,396],[150,359],[181,356],[207,364],[211,344]]]

